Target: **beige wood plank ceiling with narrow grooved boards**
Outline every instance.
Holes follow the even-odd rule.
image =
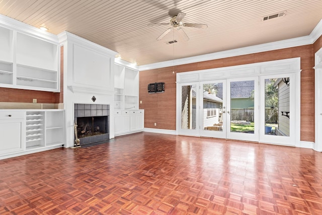
[[[184,27],[156,38],[179,12],[184,23],[207,24],[207,29]],[[285,16],[263,21],[263,17]],[[68,31],[120,53],[138,65],[191,57],[234,48],[307,36],[322,18],[320,0],[0,0],[0,14],[59,34]],[[177,40],[178,43],[166,44]]]

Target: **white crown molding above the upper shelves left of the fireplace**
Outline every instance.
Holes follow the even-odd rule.
[[[57,35],[0,14],[0,26],[58,45]]]

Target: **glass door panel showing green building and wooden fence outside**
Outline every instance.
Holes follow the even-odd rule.
[[[227,138],[258,141],[257,78],[227,81]]]

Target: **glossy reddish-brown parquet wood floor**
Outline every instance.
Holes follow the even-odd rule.
[[[1,160],[0,214],[322,214],[322,153],[141,132]]]

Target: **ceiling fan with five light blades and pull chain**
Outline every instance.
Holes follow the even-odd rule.
[[[188,35],[182,29],[183,27],[192,27],[192,28],[207,28],[206,24],[196,24],[196,23],[182,23],[181,21],[186,16],[185,13],[179,12],[177,16],[171,18],[170,23],[155,23],[155,24],[148,24],[147,26],[163,26],[169,25],[168,28],[163,34],[161,34],[156,40],[161,40],[164,36],[166,36],[172,29],[178,29],[180,35],[183,37],[185,41],[189,40]]]

